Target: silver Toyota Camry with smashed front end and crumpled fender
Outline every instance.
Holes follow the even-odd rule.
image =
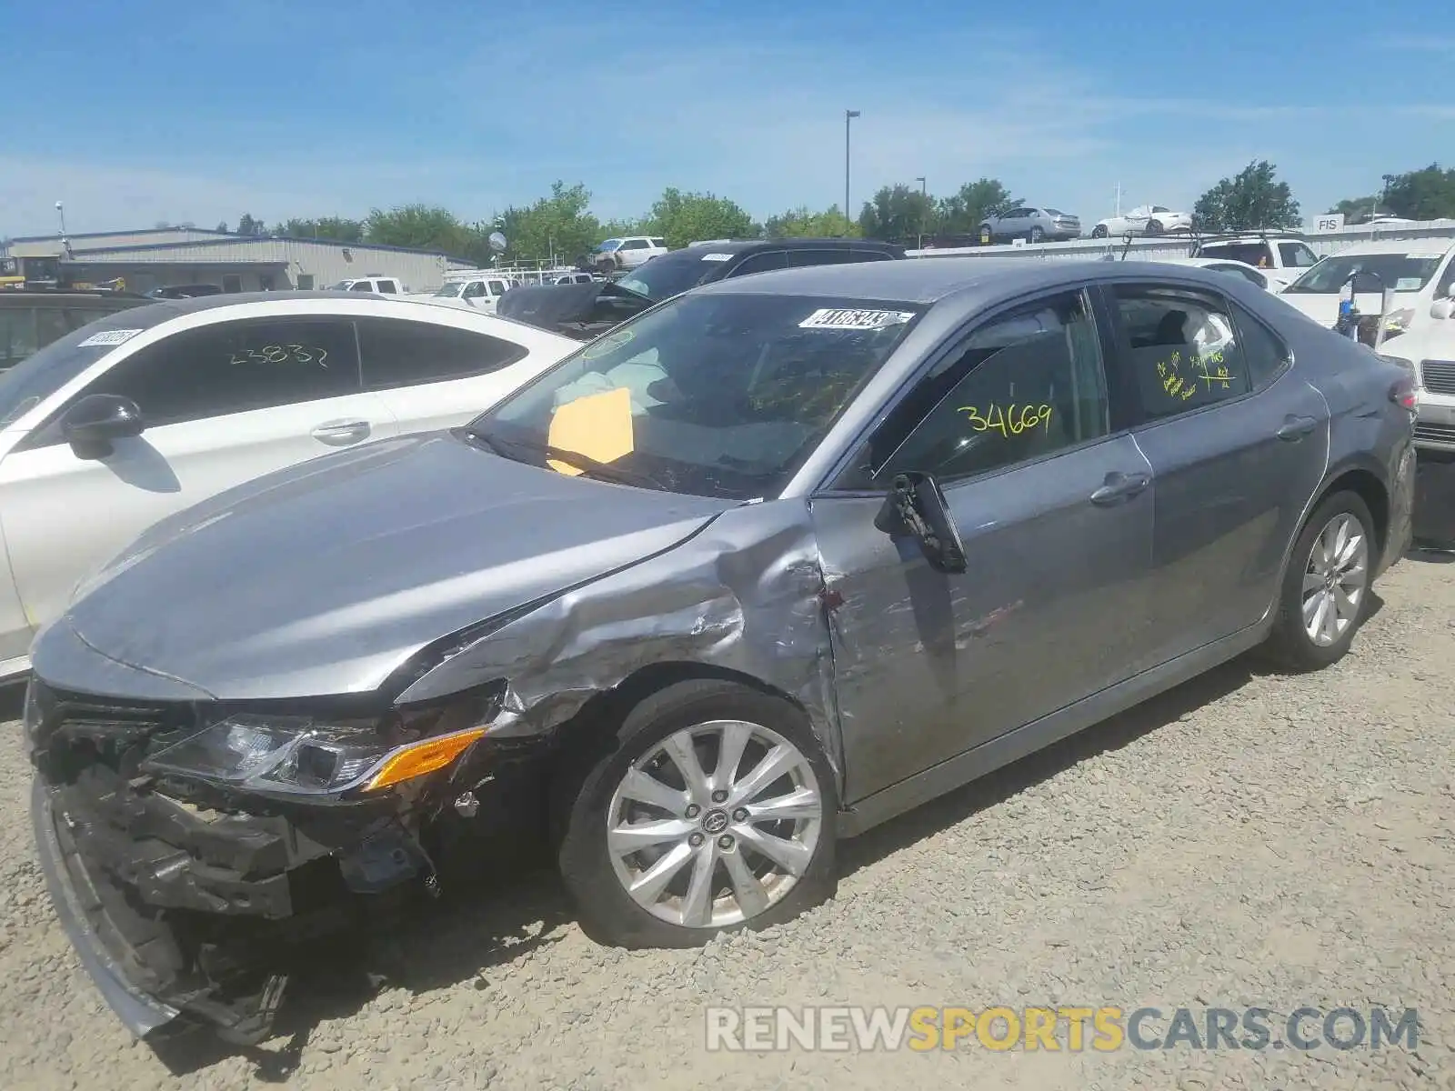
[[[1337,660],[1414,399],[1195,268],[697,289],[83,582],[25,707],[51,898],[135,1034],[240,1042],[467,829],[538,832],[602,943],[783,921],[840,838],[1241,652]]]

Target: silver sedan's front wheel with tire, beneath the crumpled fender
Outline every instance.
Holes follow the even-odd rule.
[[[783,698],[716,679],[661,690],[559,799],[560,874],[598,943],[700,947],[834,895],[834,771]]]

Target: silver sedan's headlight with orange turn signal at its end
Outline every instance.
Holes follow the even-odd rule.
[[[486,733],[474,711],[470,701],[377,723],[234,713],[148,755],[140,771],[269,794],[378,791],[464,754]]]

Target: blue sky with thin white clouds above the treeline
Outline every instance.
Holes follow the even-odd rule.
[[[1360,23],[1375,29],[1355,35]],[[1422,33],[1417,28],[1442,28]],[[410,201],[485,218],[585,182],[757,217],[997,176],[1078,212],[1189,205],[1270,159],[1305,214],[1455,166],[1449,4],[940,0],[0,3],[0,236]]]

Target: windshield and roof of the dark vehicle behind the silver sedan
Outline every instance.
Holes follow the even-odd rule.
[[[873,239],[751,239],[695,243],[659,255],[617,281],[623,288],[661,303],[711,281],[805,265],[888,262],[905,256],[902,246]]]

